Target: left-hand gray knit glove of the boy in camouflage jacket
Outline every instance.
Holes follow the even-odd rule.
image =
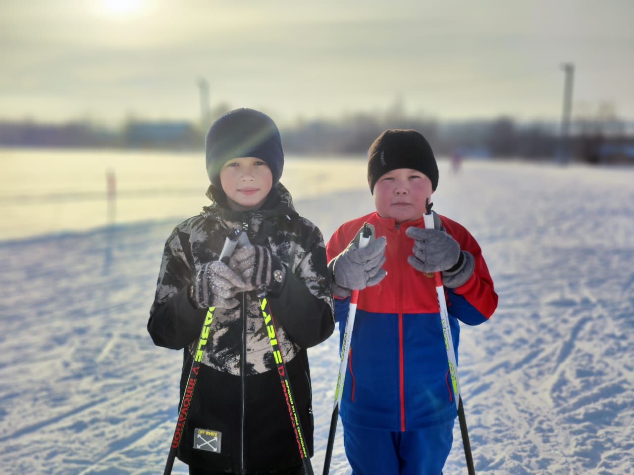
[[[198,308],[233,308],[239,303],[233,297],[246,287],[247,284],[228,265],[214,261],[198,270],[191,284],[190,298]]]

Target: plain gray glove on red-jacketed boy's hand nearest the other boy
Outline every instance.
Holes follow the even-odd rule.
[[[339,297],[349,296],[351,290],[375,286],[387,275],[385,269],[381,269],[385,263],[387,239],[383,236],[374,239],[372,230],[372,238],[368,245],[359,249],[359,235],[362,231],[363,228],[347,248],[328,264],[333,276],[332,292]]]

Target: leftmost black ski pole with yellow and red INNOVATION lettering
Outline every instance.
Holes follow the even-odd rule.
[[[238,242],[238,234],[240,230],[236,229],[231,231],[230,236],[224,240],[223,250],[220,253],[220,260],[224,263],[229,262],[231,253],[236,247]],[[163,475],[170,475],[172,473],[172,467],[174,466],[174,459],[176,458],[176,450],[181,444],[181,438],[183,436],[183,429],[185,422],[187,421],[187,415],[189,413],[191,398],[193,397],[194,388],[196,386],[196,380],[198,378],[198,371],[200,370],[200,362],[205,352],[205,346],[207,346],[207,340],[209,339],[209,329],[211,322],[214,319],[214,310],[216,307],[209,307],[207,309],[207,315],[205,315],[205,321],[200,330],[200,337],[198,338],[198,345],[196,346],[196,354],[191,362],[190,376],[188,377],[188,383],[183,393],[183,399],[181,400],[181,407],[178,410],[178,421],[176,422],[176,429],[174,429],[174,436],[172,437],[172,445],[167,455],[167,462],[165,462],[165,470]]]

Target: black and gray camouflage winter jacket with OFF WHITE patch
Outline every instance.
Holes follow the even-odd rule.
[[[295,212],[290,194],[281,184],[276,184],[256,211],[232,211],[221,205],[221,197],[208,196],[212,205],[176,226],[165,243],[148,331],[156,345],[184,349],[182,398],[207,313],[207,309],[193,307],[188,297],[196,270],[219,258],[230,229],[242,229],[251,243],[269,246],[287,269],[280,293],[269,295],[268,300],[312,453],[306,348],[328,338],[334,328],[321,232]],[[256,293],[240,293],[236,298],[238,307],[214,312],[178,457],[192,466],[236,473],[299,465],[299,450]],[[205,433],[220,433],[217,445],[204,442],[199,434]],[[262,445],[262,440],[276,443]]]

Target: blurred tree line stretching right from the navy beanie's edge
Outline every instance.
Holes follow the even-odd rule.
[[[559,124],[525,124],[511,117],[440,122],[358,114],[337,121],[298,122],[283,130],[282,137],[285,149],[293,153],[366,153],[385,129],[415,129],[436,155],[634,164],[634,133],[628,134],[624,124],[609,124],[613,123],[579,120],[574,134],[562,139]]]

